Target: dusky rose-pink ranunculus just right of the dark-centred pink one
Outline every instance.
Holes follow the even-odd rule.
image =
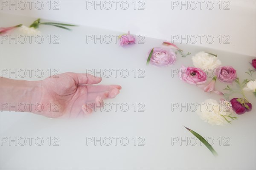
[[[236,77],[236,70],[231,66],[218,66],[215,74],[221,82],[233,82]]]

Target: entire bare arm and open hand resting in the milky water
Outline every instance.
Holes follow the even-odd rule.
[[[50,118],[91,114],[103,100],[119,94],[120,85],[96,85],[102,78],[67,72],[41,81],[0,77],[1,111],[23,111]]]

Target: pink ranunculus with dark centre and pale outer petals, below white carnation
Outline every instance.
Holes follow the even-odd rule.
[[[200,85],[206,82],[207,76],[201,68],[186,68],[182,65],[180,68],[180,79],[192,85]]]

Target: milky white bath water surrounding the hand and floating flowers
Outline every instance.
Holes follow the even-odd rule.
[[[1,26],[20,23],[29,26],[37,18],[1,14],[0,19]],[[238,115],[239,119],[233,121],[232,125],[209,125],[195,112],[186,111],[186,108],[182,111],[172,111],[172,103],[181,103],[185,106],[186,103],[190,105],[204,102],[209,98],[221,98],[217,94],[206,93],[194,85],[180,81],[177,75],[172,76],[174,69],[179,69],[181,65],[193,66],[190,58],[194,54],[199,51],[218,54],[223,65],[232,65],[236,68],[240,79],[250,78],[244,72],[252,68],[249,62],[253,57],[177,44],[185,52],[189,51],[192,54],[186,58],[178,55],[175,64],[158,68],[146,66],[145,62],[148,50],[160,46],[163,40],[137,37],[137,40],[144,44],[123,48],[114,42],[113,36],[123,32],[84,26],[72,28],[73,31],[52,26],[40,26],[39,29],[44,38],[41,44],[35,42],[35,37],[32,37],[31,44],[29,37],[26,37],[24,44],[21,43],[23,39],[17,40],[17,43],[9,43],[9,40],[1,42],[1,71],[34,69],[31,77],[29,71],[24,78],[21,78],[21,72],[20,75],[16,74],[17,77],[15,74],[7,74],[4,77],[41,80],[57,72],[93,71],[92,74],[95,74],[95,71],[100,72],[102,69],[102,74],[98,74],[103,78],[101,84],[119,84],[122,90],[115,99],[105,101],[111,109],[106,107],[104,111],[97,111],[83,119],[49,119],[32,113],[1,112],[0,136],[11,137],[13,140],[17,137],[20,143],[23,143],[22,137],[26,138],[24,146],[19,143],[15,146],[14,142],[11,146],[8,142],[3,143],[0,151],[1,169],[256,168],[256,103],[253,94],[247,94],[253,104],[253,110]],[[18,34],[18,31],[13,31],[11,35],[15,34]],[[107,37],[102,43],[99,40],[96,43],[94,40],[87,43],[88,35]],[[106,43],[109,42],[108,37],[112,37],[109,44]],[[38,41],[41,40],[38,38]],[[59,43],[53,43],[54,41]],[[35,73],[38,69],[43,71],[42,77],[40,72]],[[119,69],[116,70],[116,76],[113,69]],[[219,81],[216,83],[217,90],[225,86],[226,84]],[[116,111],[113,103],[119,103]],[[120,105],[123,103],[129,108],[121,108]],[[110,111],[107,111],[109,109]],[[209,143],[212,140],[212,146],[219,156],[212,156],[207,147],[201,146],[199,141],[192,146],[195,143],[194,136],[183,125],[208,138]],[[28,137],[34,138],[31,146]],[[41,139],[44,140],[41,146],[35,142],[37,137],[41,137],[38,139],[39,144]],[[53,139],[54,137],[57,138]],[[94,140],[94,137],[97,140],[102,137],[102,146],[100,142],[97,142],[96,146],[93,142],[87,144],[88,140]],[[116,145],[115,137],[118,137]],[[111,144],[109,139],[112,141]],[[129,140],[128,144],[123,146],[122,144],[127,143],[126,139]],[[174,143],[176,139],[183,142]],[[54,142],[59,146],[53,146]]]

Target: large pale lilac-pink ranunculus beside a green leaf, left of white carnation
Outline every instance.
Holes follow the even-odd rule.
[[[150,54],[152,49],[148,51]],[[166,66],[174,63],[176,61],[175,52],[171,48],[160,48],[156,47],[153,49],[153,53],[150,59],[150,63],[157,66]]]

